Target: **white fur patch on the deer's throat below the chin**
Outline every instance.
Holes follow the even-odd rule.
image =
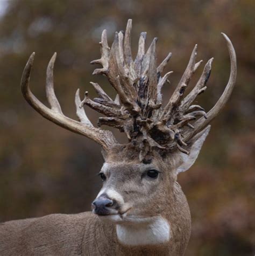
[[[171,238],[169,223],[162,217],[152,218],[149,223],[118,224],[116,231],[124,245],[155,245]]]

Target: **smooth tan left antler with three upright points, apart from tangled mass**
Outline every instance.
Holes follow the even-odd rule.
[[[49,121],[52,121],[59,126],[70,130],[74,133],[84,135],[95,142],[99,143],[105,150],[108,150],[114,144],[116,140],[110,131],[102,130],[95,128],[93,124],[89,121],[86,113],[83,108],[80,108],[81,100],[79,95],[79,89],[75,94],[75,105],[76,105],[76,114],[80,119],[80,122],[70,119],[62,113],[58,99],[56,99],[54,87],[53,87],[53,67],[56,58],[56,53],[49,61],[47,67],[47,76],[46,76],[46,95],[51,108],[46,107],[42,104],[36,96],[30,91],[29,80],[31,68],[34,60],[34,54],[32,53],[22,75],[21,87],[24,98],[29,104],[37,110],[39,114],[44,116]]]

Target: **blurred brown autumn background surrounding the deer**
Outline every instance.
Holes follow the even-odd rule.
[[[228,34],[238,60],[236,87],[193,167],[179,175],[192,213],[192,237],[186,255],[254,255],[255,244],[255,56],[251,0],[60,1],[0,0],[0,222],[50,213],[90,210],[101,187],[96,175],[103,163],[94,142],[42,118],[23,99],[20,78],[36,52],[31,87],[46,103],[45,71],[58,52],[55,91],[66,115],[75,117],[74,94],[98,82],[115,96],[107,80],[93,77],[90,61],[100,57],[101,32],[109,44],[115,31],[133,19],[133,56],[139,33],[148,46],[158,37],[161,62],[173,53],[169,98],[199,44],[197,60],[215,57],[206,93],[198,100],[206,110],[228,82],[230,60],[220,32]],[[196,82],[202,67],[192,80]],[[87,109],[87,108],[86,108]],[[94,124],[98,115],[87,109]],[[123,134],[116,136],[122,140]]]

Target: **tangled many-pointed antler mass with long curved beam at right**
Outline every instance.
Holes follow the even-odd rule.
[[[223,108],[228,101],[236,80],[235,50],[229,38],[223,34],[228,45],[231,59],[231,75],[224,93],[214,108],[208,113],[199,105],[192,105],[198,95],[206,90],[213,58],[204,66],[202,75],[193,90],[184,98],[185,90],[192,75],[202,63],[196,63],[197,45],[195,45],[188,66],[167,105],[162,107],[162,86],[172,72],[161,77],[164,67],[172,54],[169,53],[157,67],[154,38],[145,53],[146,33],[139,38],[138,53],[133,61],[130,33],[132,20],[128,20],[125,33],[116,32],[111,48],[107,43],[107,33],[102,33],[101,58],[91,64],[101,64],[93,74],[105,75],[117,92],[118,103],[112,102],[98,93],[101,99],[90,100],[86,94],[83,103],[103,113],[98,124],[107,124],[124,131],[133,144],[139,145],[143,158],[151,148],[172,150],[185,149],[191,137],[199,133]],[[96,91],[98,92],[99,85]],[[198,120],[197,120],[198,119]]]

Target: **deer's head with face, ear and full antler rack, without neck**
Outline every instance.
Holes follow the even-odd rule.
[[[168,103],[162,105],[162,86],[171,72],[163,75],[171,53],[157,66],[154,38],[145,51],[146,33],[140,34],[136,59],[131,54],[131,26],[116,32],[112,46],[108,46],[107,32],[102,33],[101,58],[91,61],[100,64],[93,74],[105,75],[117,92],[112,100],[100,85],[91,82],[98,98],[91,100],[88,92],[81,101],[79,89],[75,94],[76,114],[80,121],[69,119],[62,113],[53,88],[53,66],[56,53],[49,61],[46,78],[46,94],[51,108],[43,105],[30,91],[29,80],[33,64],[32,53],[22,77],[22,92],[27,102],[46,119],[74,133],[84,135],[102,146],[105,163],[100,171],[103,188],[93,202],[93,211],[102,219],[115,223],[147,222],[157,216],[174,214],[176,193],[180,191],[176,178],[195,162],[206,136],[209,123],[224,107],[236,80],[236,54],[230,39],[223,37],[228,46],[231,72],[229,82],[215,106],[206,112],[195,105],[203,93],[211,72],[213,58],[203,68],[200,79],[185,96],[193,73],[201,61],[196,62],[197,45],[189,63]],[[96,128],[89,121],[83,106],[87,105],[104,117],[98,127],[108,125],[124,132],[129,142],[119,144],[114,135]],[[172,204],[168,213],[166,207]],[[121,231],[119,231],[121,232]],[[121,236],[121,234],[120,234]]]

